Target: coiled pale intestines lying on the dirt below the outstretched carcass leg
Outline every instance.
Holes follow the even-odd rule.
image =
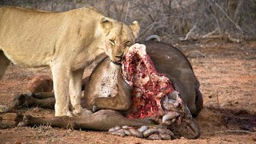
[[[131,126],[115,126],[109,130],[109,134],[118,136],[133,136],[151,140],[169,140],[174,138],[174,133],[162,126],[142,126],[135,129]]]

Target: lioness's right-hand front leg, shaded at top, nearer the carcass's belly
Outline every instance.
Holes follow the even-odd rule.
[[[84,70],[71,71],[70,74],[70,102],[73,106],[73,114],[82,113],[81,95],[82,95],[82,74]]]

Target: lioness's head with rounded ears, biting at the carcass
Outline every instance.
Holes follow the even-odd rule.
[[[138,37],[138,22],[134,21],[128,26],[110,18],[102,18],[101,26],[105,33],[106,54],[112,62],[120,63],[128,47]]]

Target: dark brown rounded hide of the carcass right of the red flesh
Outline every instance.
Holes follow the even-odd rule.
[[[180,97],[196,117],[202,110],[202,94],[200,83],[194,75],[193,68],[184,54],[174,46],[162,42],[146,41],[147,54],[154,62],[159,73],[166,74],[174,87],[179,91]]]

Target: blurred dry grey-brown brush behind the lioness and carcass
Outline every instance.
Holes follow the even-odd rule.
[[[138,40],[151,34],[168,43],[256,39],[256,0],[0,0],[0,5],[50,11],[94,6],[120,22],[137,20]]]

